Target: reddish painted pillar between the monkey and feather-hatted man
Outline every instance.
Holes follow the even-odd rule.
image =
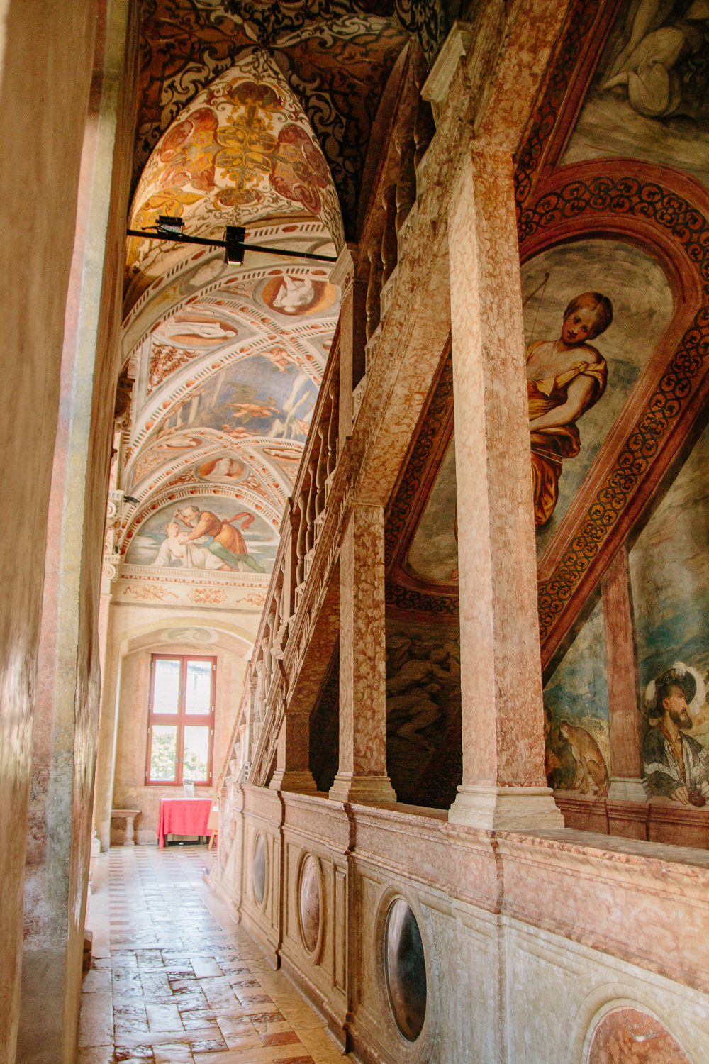
[[[601,587],[610,715],[608,799],[645,802],[647,796],[642,784],[638,652],[628,553],[624,546],[604,572]],[[613,834],[615,833],[613,830]],[[644,838],[644,830],[637,837]]]

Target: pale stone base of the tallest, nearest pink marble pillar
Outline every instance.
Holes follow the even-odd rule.
[[[482,831],[546,831],[563,828],[551,787],[459,786],[451,824]]]

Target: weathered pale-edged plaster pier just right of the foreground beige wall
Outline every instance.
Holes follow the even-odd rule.
[[[23,899],[18,1057],[28,1064],[68,1064],[77,1045],[98,730],[99,572],[129,192],[130,12],[126,0],[99,5],[64,321]],[[75,38],[68,40],[67,54],[75,47]],[[38,1025],[40,1012],[46,1023]]]

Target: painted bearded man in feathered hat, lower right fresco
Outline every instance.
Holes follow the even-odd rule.
[[[709,798],[709,757],[685,734],[692,728],[689,703],[695,694],[696,680],[689,669],[675,665],[658,676],[642,749],[651,794],[681,805],[705,805]]]

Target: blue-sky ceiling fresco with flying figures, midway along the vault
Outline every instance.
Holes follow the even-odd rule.
[[[292,364],[254,354],[232,363],[185,397],[162,425],[162,435],[219,429],[235,439],[271,436],[305,439],[317,387]]]

